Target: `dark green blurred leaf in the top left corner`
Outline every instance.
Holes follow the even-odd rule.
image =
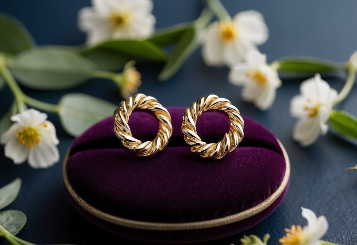
[[[19,20],[0,14],[0,51],[16,55],[35,45],[29,31]]]

